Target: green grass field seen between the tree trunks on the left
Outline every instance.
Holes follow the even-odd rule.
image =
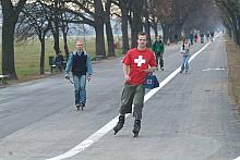
[[[79,38],[79,37],[77,37]],[[69,37],[68,46],[69,51],[73,51],[75,49],[76,37]],[[63,42],[60,41],[60,49],[64,56]],[[95,57],[95,39],[93,37],[87,37],[85,40],[85,49],[91,53],[91,57]],[[29,40],[25,44],[15,45],[15,70],[19,79],[28,79],[31,77],[39,75],[40,67],[40,42],[35,40]],[[53,40],[46,40],[46,56],[45,56],[45,72],[49,72],[49,56],[56,56],[53,51]],[[116,50],[119,54],[120,50]],[[0,73],[2,66],[2,54],[0,49]]]

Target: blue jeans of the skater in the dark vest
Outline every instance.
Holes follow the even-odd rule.
[[[75,104],[86,103],[86,75],[73,75]]]

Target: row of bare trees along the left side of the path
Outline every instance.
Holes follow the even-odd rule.
[[[17,78],[13,48],[15,37],[17,40],[38,37],[41,44],[40,74],[44,74],[46,36],[53,37],[53,49],[59,53],[59,38],[62,35],[68,57],[67,39],[71,24],[92,26],[96,33],[96,56],[105,58],[115,56],[111,19],[119,20],[121,25],[122,53],[136,46],[139,32],[145,30],[151,35],[151,30],[154,30],[157,36],[160,25],[166,41],[173,35],[180,36],[182,30],[189,34],[193,27],[213,29],[206,22],[214,24],[218,20],[208,20],[211,16],[202,14],[217,17],[217,8],[214,7],[213,0],[19,0],[17,3],[0,1],[3,12],[2,73],[10,74],[11,78]],[[218,4],[223,7],[219,2]],[[105,33],[108,53],[105,48]],[[151,45],[151,37],[148,41]]]

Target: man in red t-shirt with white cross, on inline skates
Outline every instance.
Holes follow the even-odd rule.
[[[146,48],[146,39],[147,35],[140,33],[137,35],[137,47],[130,49],[122,60],[124,88],[119,110],[119,122],[113,127],[115,134],[123,127],[125,113],[132,113],[132,103],[134,103],[133,116],[135,121],[132,132],[134,137],[139,135],[145,95],[144,83],[147,74],[156,69],[155,56],[151,49]]]

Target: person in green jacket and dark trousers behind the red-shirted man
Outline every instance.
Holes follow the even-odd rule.
[[[157,40],[154,42],[152,47],[153,51],[155,52],[156,62],[157,62],[157,70],[158,70],[158,61],[160,61],[160,70],[164,71],[164,42],[161,40],[161,36],[157,36]]]

